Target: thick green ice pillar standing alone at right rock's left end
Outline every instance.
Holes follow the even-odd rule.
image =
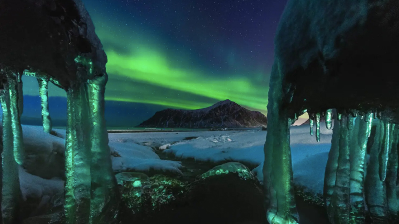
[[[264,146],[263,179],[267,221],[271,224],[298,224],[295,206],[288,112],[282,108],[282,73],[275,61],[267,104],[268,128]]]

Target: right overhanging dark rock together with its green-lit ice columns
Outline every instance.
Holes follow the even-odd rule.
[[[263,174],[271,224],[298,223],[287,124],[304,110],[311,135],[316,123],[316,141],[320,118],[328,129],[334,122],[324,179],[330,222],[361,224],[366,213],[374,223],[397,222],[398,10],[394,0],[288,1],[267,107]]]

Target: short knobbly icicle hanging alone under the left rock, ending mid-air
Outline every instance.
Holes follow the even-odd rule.
[[[51,118],[49,113],[48,102],[48,80],[38,79],[39,82],[39,96],[41,103],[41,120],[43,122],[43,130],[47,133],[51,132]]]

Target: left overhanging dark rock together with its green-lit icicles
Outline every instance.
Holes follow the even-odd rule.
[[[107,56],[89,14],[81,0],[2,3],[5,3],[0,8],[4,223],[19,223],[21,193],[16,186],[19,186],[18,165],[24,166],[25,157],[20,123],[22,75],[38,79],[45,132],[51,132],[48,82],[67,92],[66,223],[115,222],[119,197],[104,119]]]

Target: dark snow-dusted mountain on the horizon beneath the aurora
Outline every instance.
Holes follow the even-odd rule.
[[[138,127],[158,128],[252,128],[266,127],[267,118],[261,112],[243,108],[223,100],[198,110],[166,109],[155,113]]]

